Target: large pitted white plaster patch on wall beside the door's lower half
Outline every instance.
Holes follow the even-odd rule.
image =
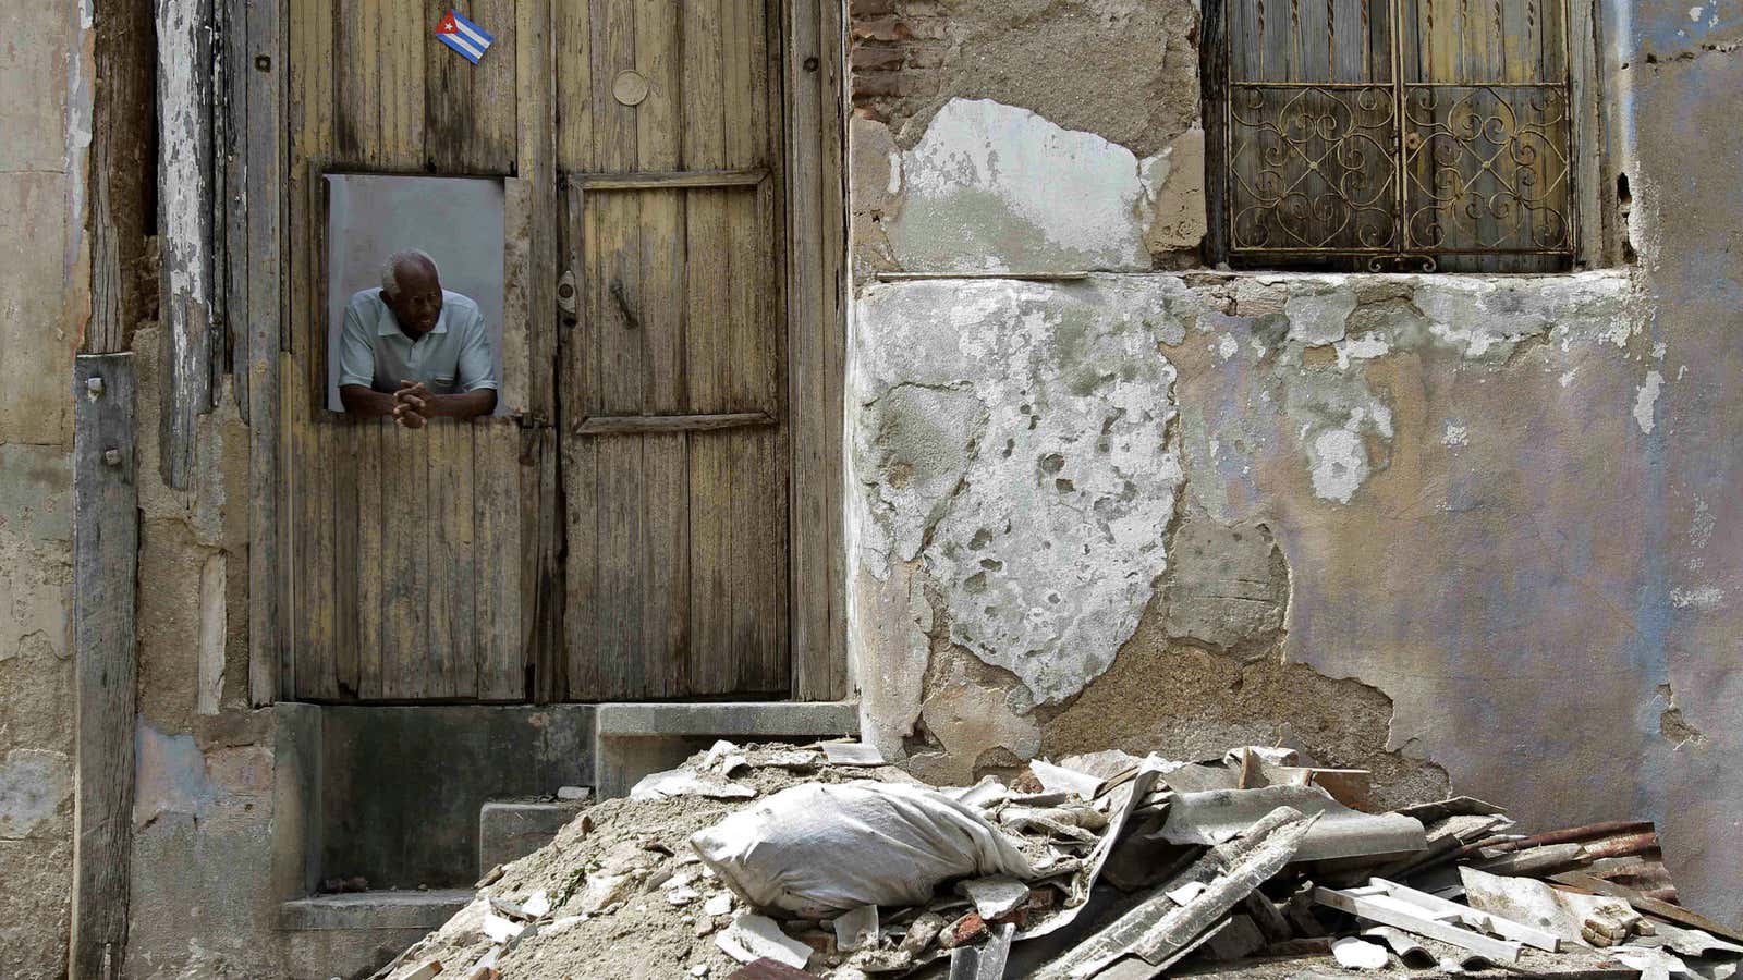
[[[861,548],[880,579],[919,558],[950,638],[1041,703],[1131,635],[1182,476],[1166,317],[1096,300],[995,281],[875,288],[861,305]]]

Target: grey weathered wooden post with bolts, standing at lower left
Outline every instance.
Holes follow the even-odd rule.
[[[120,975],[134,779],[132,354],[73,366],[73,980]]]

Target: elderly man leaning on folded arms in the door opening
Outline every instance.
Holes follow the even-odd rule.
[[[490,415],[495,364],[478,303],[443,289],[436,260],[422,251],[389,256],[382,286],[345,303],[338,398],[352,415],[392,415],[408,429]]]

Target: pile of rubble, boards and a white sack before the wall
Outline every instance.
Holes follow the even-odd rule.
[[[1649,823],[1520,835],[1372,792],[1283,748],[933,788],[863,745],[718,743],[492,870],[376,978],[1736,973],[1743,935],[1677,905]]]

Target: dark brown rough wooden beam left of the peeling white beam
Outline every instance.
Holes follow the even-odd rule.
[[[94,28],[91,326],[82,350],[106,354],[132,344],[132,326],[148,316],[155,288],[143,269],[157,169],[152,0],[98,0]]]

